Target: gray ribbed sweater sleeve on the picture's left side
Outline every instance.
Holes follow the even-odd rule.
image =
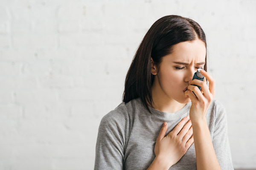
[[[123,111],[106,114],[99,125],[94,170],[122,170],[126,119]]]

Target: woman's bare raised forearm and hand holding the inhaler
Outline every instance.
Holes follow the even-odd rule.
[[[189,116],[193,127],[196,165],[198,170],[221,170],[205,117],[215,96],[215,80],[204,70],[201,70],[201,74],[205,77],[204,81],[193,79],[189,82],[188,91],[185,92],[185,95],[189,96],[192,103]],[[209,80],[209,88],[206,78]],[[200,86],[201,91],[195,85]]]

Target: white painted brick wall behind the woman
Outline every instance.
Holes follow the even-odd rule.
[[[256,168],[255,0],[0,0],[0,170],[91,170],[150,26],[204,29],[235,168]]]

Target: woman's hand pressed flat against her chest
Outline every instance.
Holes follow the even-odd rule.
[[[157,137],[154,154],[168,167],[176,164],[194,142],[194,137],[191,136],[193,134],[192,123],[188,120],[188,116],[183,118],[167,136],[165,136],[167,123],[164,122]]]

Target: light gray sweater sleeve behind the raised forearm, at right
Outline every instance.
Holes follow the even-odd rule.
[[[221,170],[234,170],[227,133],[226,110],[218,101],[215,101],[215,118],[215,129],[212,144],[218,159],[218,163]]]

